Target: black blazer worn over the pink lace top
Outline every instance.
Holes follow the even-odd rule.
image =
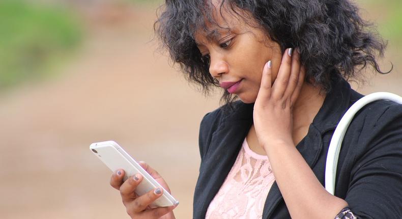
[[[297,145],[323,185],[333,131],[343,114],[361,97],[347,81],[333,83],[307,135]],[[230,112],[218,108],[201,122],[201,164],[193,218],[205,218],[253,122],[253,104],[238,101],[234,107]],[[402,105],[376,101],[355,116],[340,151],[335,195],[345,199],[358,218],[402,218]],[[263,218],[290,218],[276,182],[268,193]]]

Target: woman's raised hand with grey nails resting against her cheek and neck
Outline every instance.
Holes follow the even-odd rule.
[[[286,49],[277,77],[272,84],[271,61],[265,64],[261,87],[254,104],[254,127],[262,147],[293,144],[293,106],[304,81],[300,54]]]

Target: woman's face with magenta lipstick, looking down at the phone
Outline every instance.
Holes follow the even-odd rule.
[[[219,11],[219,7],[216,8]],[[252,103],[260,89],[264,65],[269,60],[272,61],[272,81],[276,78],[282,60],[279,44],[232,13],[222,10],[222,15],[214,14],[221,28],[208,26],[214,30],[210,38],[205,32],[195,34],[197,47],[203,56],[210,57],[209,72],[219,80],[220,86],[243,102]]]

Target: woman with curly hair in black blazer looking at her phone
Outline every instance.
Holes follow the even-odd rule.
[[[362,95],[346,79],[384,44],[348,0],[166,1],[156,31],[186,76],[225,105],[200,125],[194,218],[402,218],[402,107],[377,101],[344,138],[335,196],[324,184],[332,133]],[[239,99],[235,101],[236,99]],[[161,184],[164,180],[142,163]],[[142,176],[110,184],[132,218],[161,190],[136,197]]]

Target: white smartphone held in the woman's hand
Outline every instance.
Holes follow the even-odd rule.
[[[126,174],[123,180],[129,176],[140,173],[143,178],[134,190],[135,194],[142,196],[156,187],[163,188],[146,170],[144,170],[122,147],[114,141],[93,143],[90,146],[91,151],[111,170],[123,169]],[[155,200],[150,207],[166,207],[178,203],[164,188],[163,195]]]

